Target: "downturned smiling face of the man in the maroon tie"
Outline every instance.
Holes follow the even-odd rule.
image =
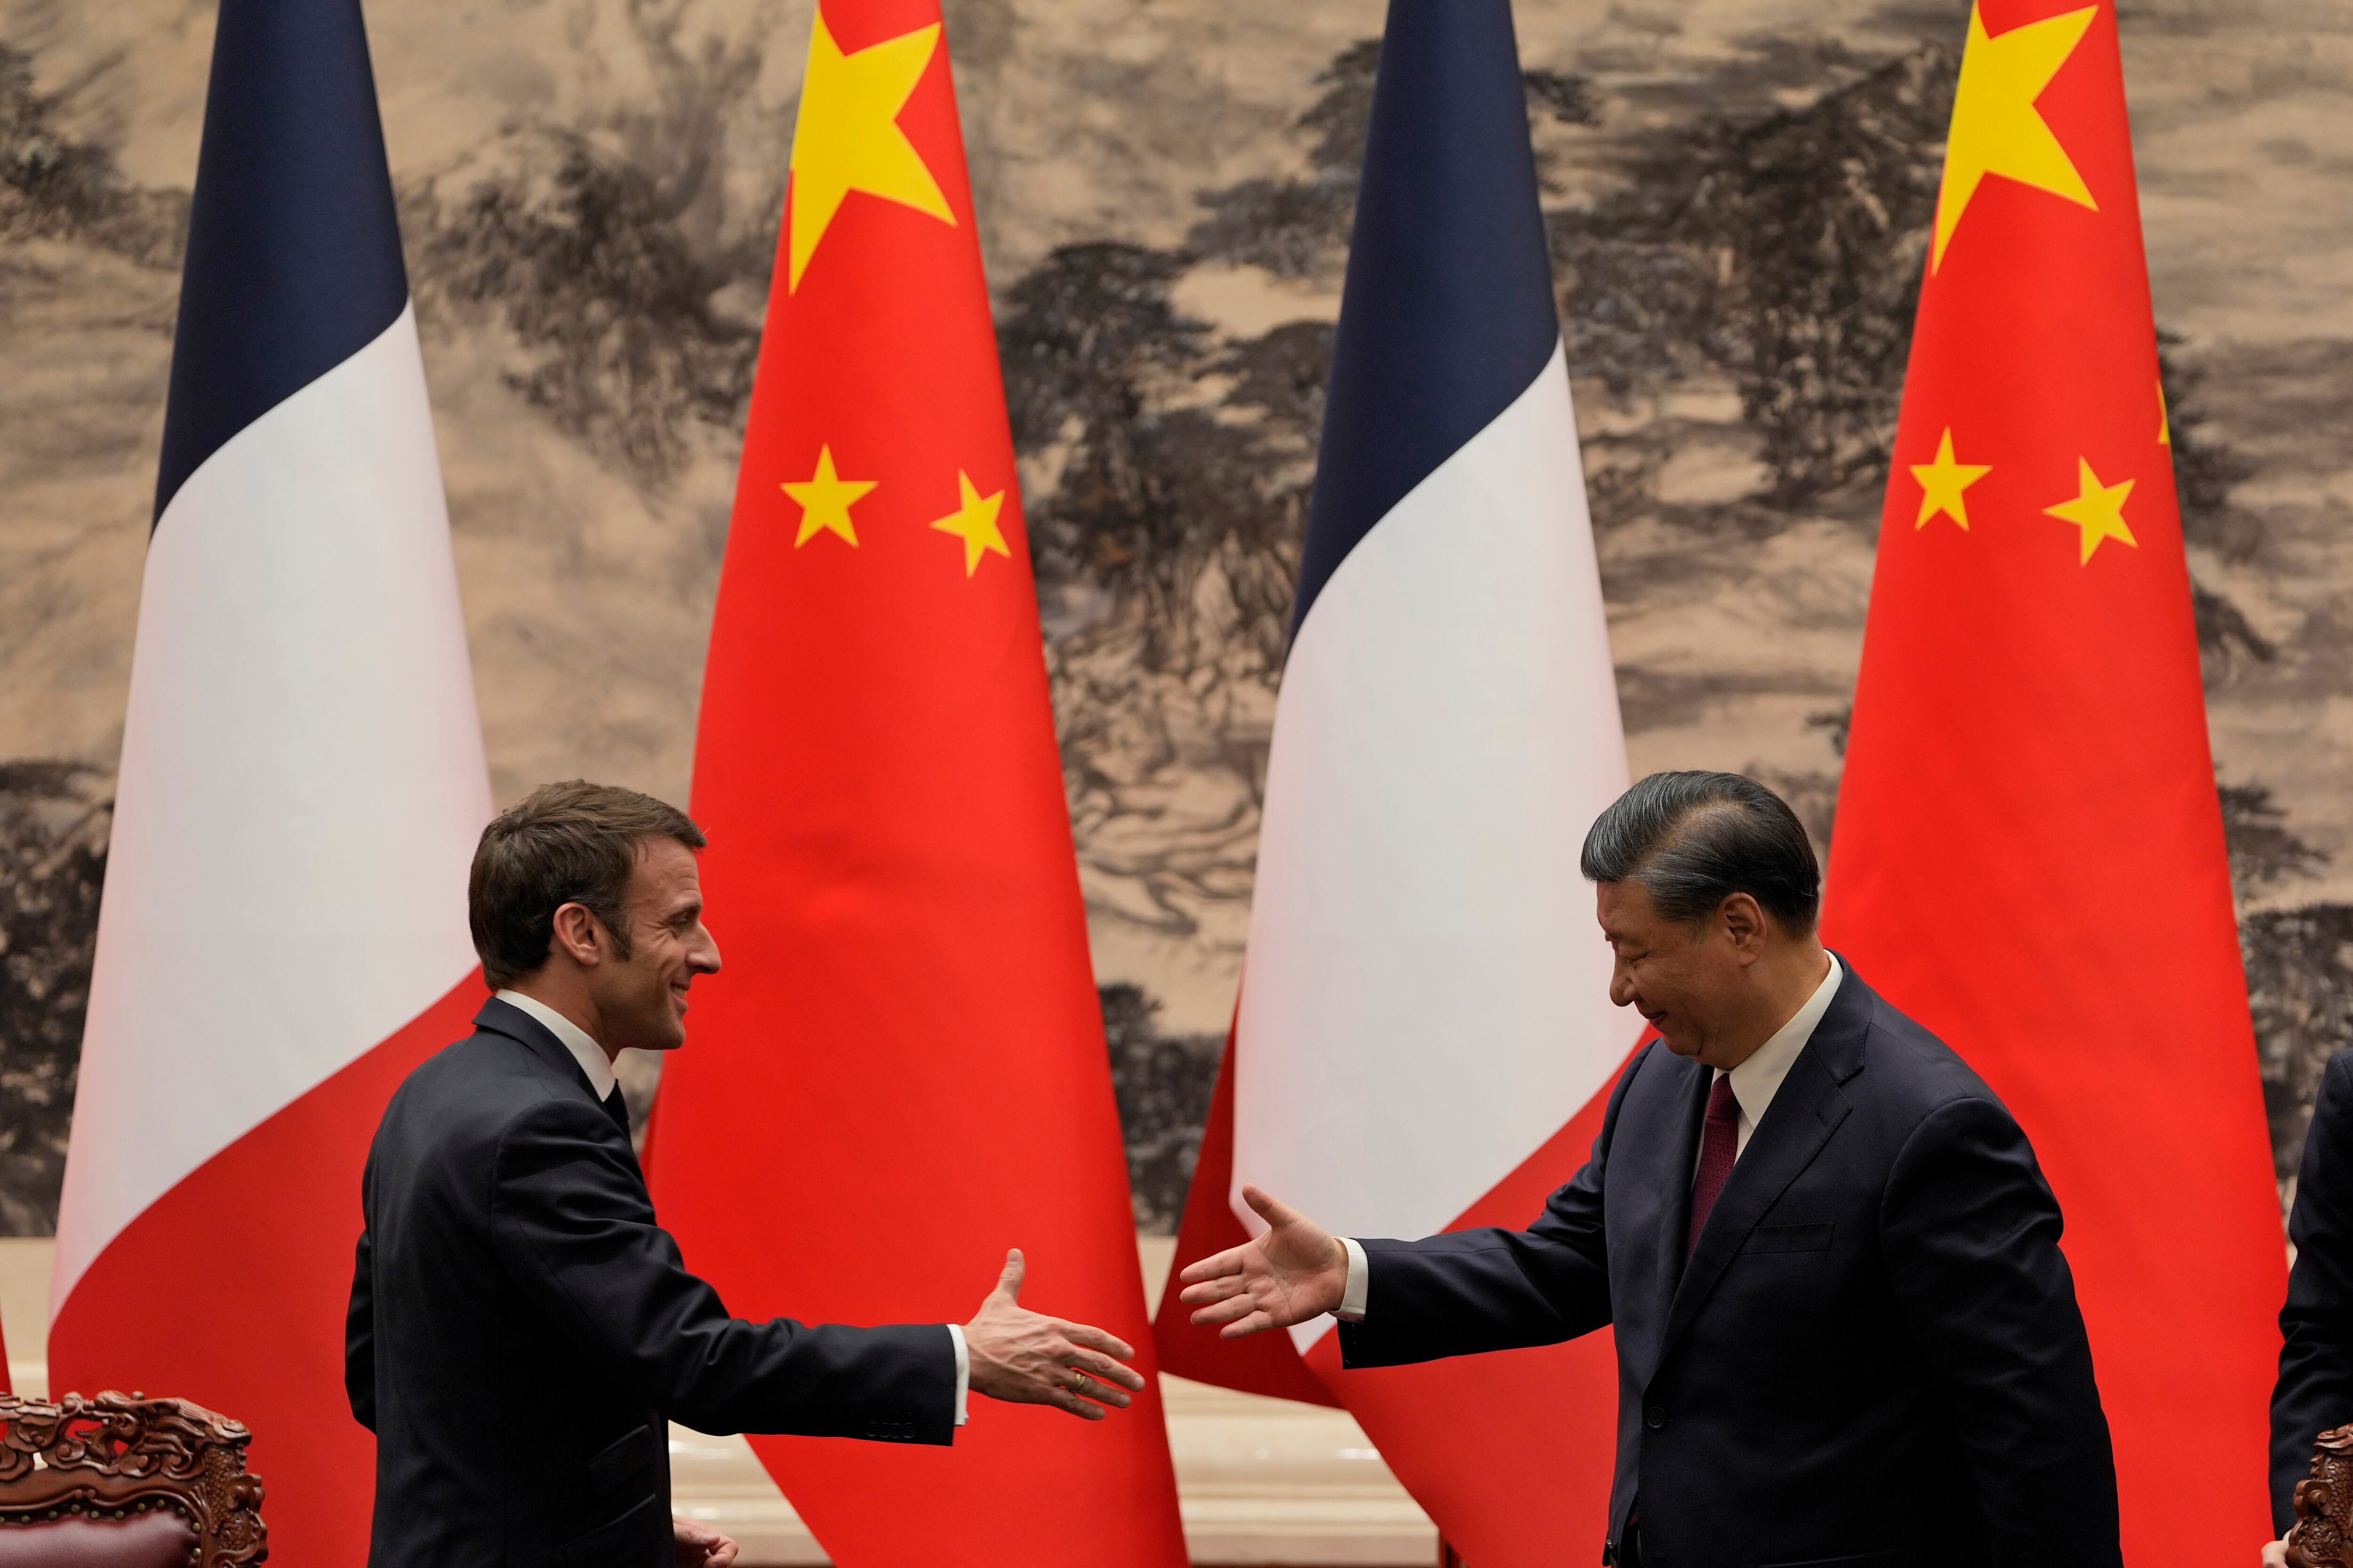
[[[1737,1067],[1755,1051],[1748,969],[1762,912],[1732,893],[1706,919],[1664,919],[1640,882],[1598,882],[1595,900],[1614,966],[1609,999],[1659,1030],[1666,1048],[1708,1067]]]

